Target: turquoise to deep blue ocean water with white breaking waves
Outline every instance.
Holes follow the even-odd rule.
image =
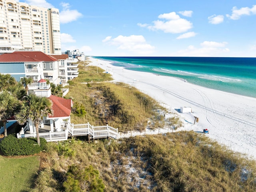
[[[97,58],[128,70],[173,76],[207,88],[256,98],[256,58]]]

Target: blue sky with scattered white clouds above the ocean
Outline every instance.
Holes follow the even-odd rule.
[[[60,10],[62,51],[256,56],[256,0],[20,0]]]

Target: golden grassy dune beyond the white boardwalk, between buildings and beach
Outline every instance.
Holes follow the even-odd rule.
[[[110,74],[102,73],[104,70],[101,68],[97,73],[95,67],[80,64],[79,71],[84,74],[79,74],[72,81],[65,98],[72,98],[77,106],[84,106],[86,114],[72,113],[72,123],[89,122],[94,126],[108,124],[119,131],[144,130],[148,120],[152,122],[152,128],[160,125],[163,117],[160,117],[157,109],[164,109],[154,99],[128,84],[108,82],[111,80]],[[98,76],[101,78],[98,79]]]

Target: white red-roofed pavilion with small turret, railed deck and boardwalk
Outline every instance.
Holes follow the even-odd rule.
[[[48,97],[52,101],[53,115],[44,117],[40,124],[39,136],[46,141],[67,140],[68,136],[88,136],[88,138],[119,138],[118,129],[111,126],[92,126],[86,124],[72,124],[70,114],[73,102],[71,99],[57,97],[51,94],[51,87],[46,80],[38,81],[38,87],[34,89],[37,96]],[[32,121],[28,120],[24,128],[17,134],[17,138],[36,137],[36,128]]]

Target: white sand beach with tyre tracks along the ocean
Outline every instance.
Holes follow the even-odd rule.
[[[184,124],[179,130],[202,134],[230,149],[256,159],[256,98],[208,89],[184,80],[156,74],[126,70],[110,62],[89,58],[90,65],[112,74],[114,82],[124,82],[158,100],[165,108],[189,106],[192,112],[178,113]],[[194,116],[199,122],[194,124]],[[111,126],[111,125],[110,125]]]

